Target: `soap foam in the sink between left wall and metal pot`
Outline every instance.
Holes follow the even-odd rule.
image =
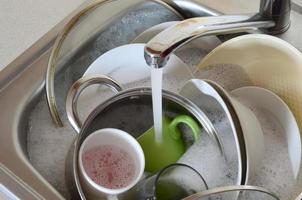
[[[69,196],[65,183],[65,159],[75,137],[76,133],[67,121],[62,128],[53,125],[46,96],[43,95],[29,118],[29,160],[65,197]]]

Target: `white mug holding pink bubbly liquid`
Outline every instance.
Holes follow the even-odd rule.
[[[131,182],[121,188],[110,189],[95,183],[86,173],[83,154],[97,146],[112,145],[127,152],[134,161],[135,172]],[[114,128],[100,129],[90,134],[81,144],[79,151],[79,174],[87,199],[112,199],[132,188],[141,179],[145,169],[144,152],[130,134]]]

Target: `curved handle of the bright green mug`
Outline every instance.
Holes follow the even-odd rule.
[[[186,124],[191,129],[194,141],[199,139],[201,128],[199,127],[197,122],[188,115],[179,115],[175,117],[169,124],[169,132],[172,138],[177,140],[181,137],[181,133],[177,128],[180,123]]]

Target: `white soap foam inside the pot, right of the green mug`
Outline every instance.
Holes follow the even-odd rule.
[[[211,117],[216,118],[214,127],[226,147],[224,151],[229,155],[227,160],[217,144],[203,130],[200,139],[187,150],[179,162],[196,169],[205,178],[209,188],[234,185],[238,179],[238,158],[229,122],[227,118],[221,118],[221,113],[218,112],[212,113]]]

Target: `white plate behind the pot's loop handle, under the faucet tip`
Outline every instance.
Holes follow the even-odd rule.
[[[98,57],[83,76],[103,74],[115,79],[124,89],[150,87],[151,68],[144,59],[144,44],[127,44],[114,48]],[[192,78],[188,66],[177,56],[171,55],[163,69],[163,88],[178,92]],[[103,87],[102,87],[103,88]],[[109,90],[90,86],[79,97],[79,115],[82,119],[101,102],[112,96]]]

